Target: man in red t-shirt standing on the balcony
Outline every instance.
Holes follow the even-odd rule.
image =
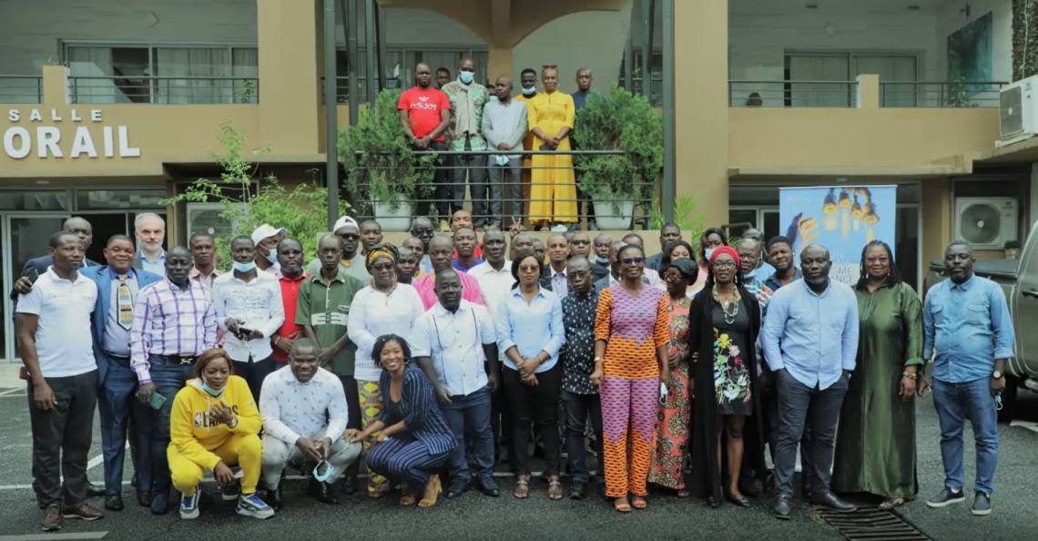
[[[430,86],[433,82],[433,73],[425,62],[414,67],[414,82],[417,86],[404,90],[400,94],[400,101],[397,102],[404,133],[416,151],[446,151],[443,133],[450,123],[450,102],[447,100],[447,94]],[[450,187],[447,186],[442,157],[437,160],[433,184],[436,186],[436,211],[440,215],[442,228],[445,228]],[[429,201],[425,198],[418,201],[417,211],[418,216],[428,216]]]

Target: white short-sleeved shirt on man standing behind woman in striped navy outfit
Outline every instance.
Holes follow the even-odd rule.
[[[430,357],[436,378],[452,397],[487,386],[484,344],[496,342],[494,322],[486,306],[462,299],[450,314],[439,302],[421,315],[411,333],[411,356]]]

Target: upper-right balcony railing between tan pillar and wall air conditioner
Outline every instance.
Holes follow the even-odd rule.
[[[880,81],[880,107],[998,107],[1005,81]]]

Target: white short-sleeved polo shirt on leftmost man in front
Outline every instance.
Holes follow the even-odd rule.
[[[98,369],[93,360],[90,314],[98,286],[76,273],[66,280],[48,267],[27,295],[18,297],[18,314],[39,317],[34,341],[45,378],[66,378]]]

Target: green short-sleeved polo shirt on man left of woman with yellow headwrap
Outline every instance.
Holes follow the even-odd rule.
[[[327,348],[346,334],[346,322],[350,317],[353,296],[366,285],[345,274],[342,269],[330,283],[325,283],[320,272],[303,280],[296,299],[296,324],[313,327],[318,345]],[[340,376],[353,376],[354,356],[357,347],[350,342],[335,355],[332,372]]]

